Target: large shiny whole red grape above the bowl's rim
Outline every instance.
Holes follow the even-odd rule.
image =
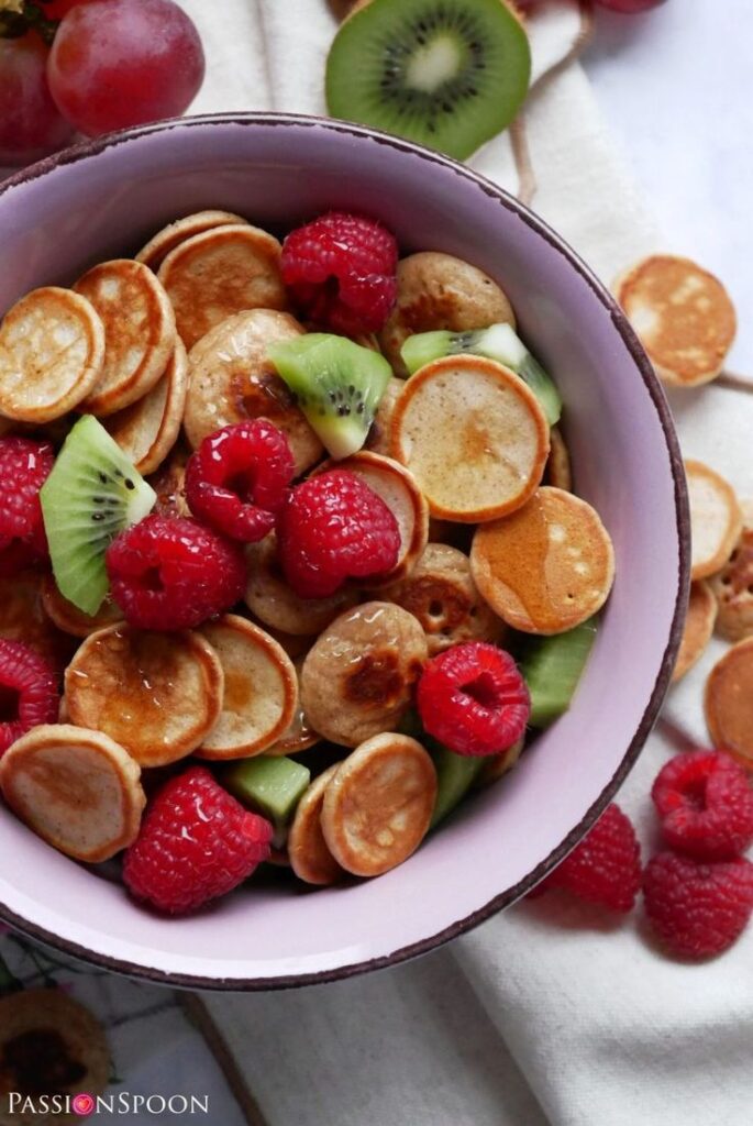
[[[172,0],[97,0],[63,18],[47,78],[61,113],[99,136],[182,114],[204,80],[204,51]]]

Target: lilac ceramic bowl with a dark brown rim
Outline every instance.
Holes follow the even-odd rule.
[[[496,277],[556,376],[577,490],[617,555],[570,713],[504,783],[379,879],[315,892],[251,883],[214,910],[162,919],[0,810],[7,922],[134,976],[256,990],[430,950],[508,906],[576,843],[630,769],[666,690],[688,583],[688,515],[664,396],[606,288],[493,184],[369,129],[267,114],[188,118],[37,164],[0,187],[0,312],[206,207],[280,230],[332,207],[361,211],[404,251],[447,251]]]

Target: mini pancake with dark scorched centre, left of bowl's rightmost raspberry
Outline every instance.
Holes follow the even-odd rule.
[[[364,602],[324,629],[301,672],[301,703],[314,730],[358,747],[395,730],[428,656],[421,623],[401,606]]]

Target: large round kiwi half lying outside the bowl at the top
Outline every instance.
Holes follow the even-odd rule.
[[[334,37],[326,104],[465,160],[513,119],[530,68],[504,0],[371,0]]]

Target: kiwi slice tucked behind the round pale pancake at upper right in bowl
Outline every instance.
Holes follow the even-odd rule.
[[[416,332],[401,348],[410,375],[441,356],[459,356],[463,352],[486,356],[511,368],[531,388],[544,408],[549,426],[559,421],[562,397],[554,381],[509,324],[492,324],[488,329],[473,332]]]

